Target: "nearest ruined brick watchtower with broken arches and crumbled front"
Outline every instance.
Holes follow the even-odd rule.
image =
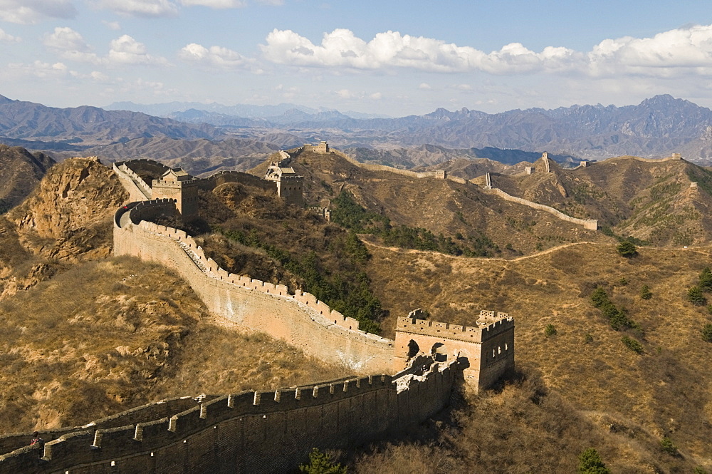
[[[514,368],[514,320],[506,313],[480,311],[476,326],[459,326],[417,319],[419,310],[396,324],[394,371],[407,366],[419,353],[436,361],[456,359],[464,367],[465,382],[475,391],[491,386]]]

